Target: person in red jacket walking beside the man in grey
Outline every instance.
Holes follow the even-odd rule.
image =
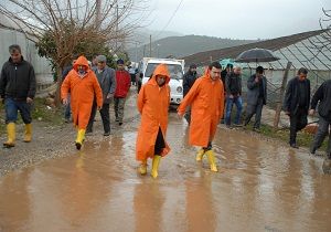
[[[119,59],[117,61],[116,91],[114,95],[115,118],[119,126],[122,125],[124,107],[130,89],[130,74],[125,70],[124,60]]]

